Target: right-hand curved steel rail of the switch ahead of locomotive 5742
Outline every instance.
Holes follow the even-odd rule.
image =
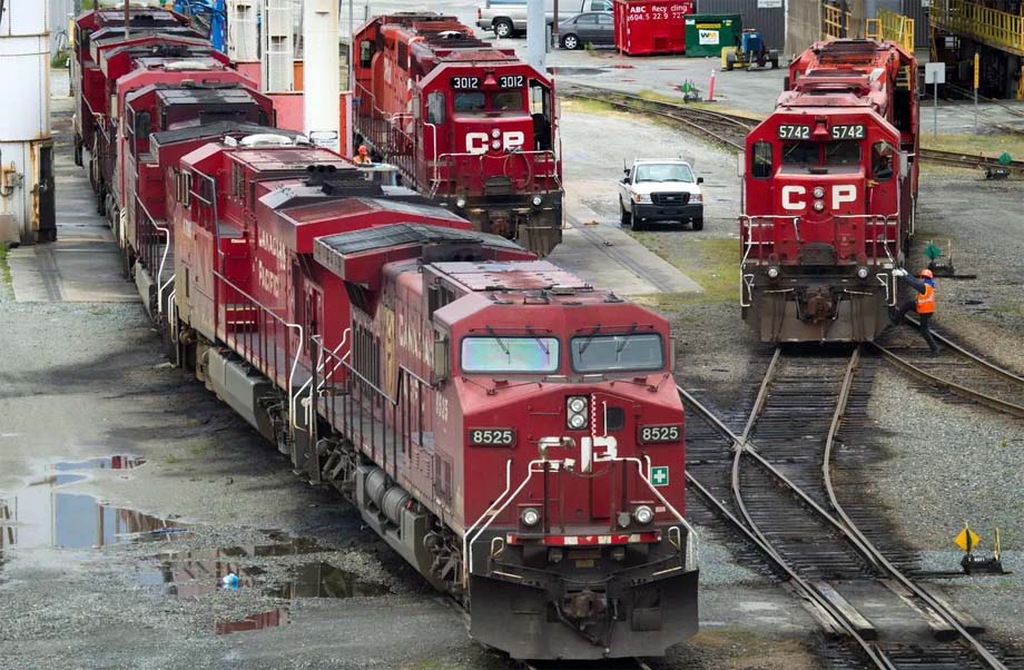
[[[849,401],[849,392],[854,384],[854,374],[856,372],[857,363],[860,358],[860,347],[854,349],[853,356],[850,356],[849,365],[846,368],[846,375],[843,378],[843,387],[839,391],[839,400],[836,402],[836,411],[833,414],[831,424],[828,427],[828,435],[825,439],[825,455],[821,460],[821,476],[825,481],[825,490],[828,492],[828,501],[831,504],[833,509],[843,520],[843,523],[846,525],[849,534],[856,538],[865,546],[870,548],[874,553],[874,562],[876,565],[879,565],[890,578],[903,584],[908,591],[914,593],[922,602],[931,607],[935,612],[943,618],[943,620],[948,623],[953,629],[959,634],[961,639],[971,647],[972,651],[981,658],[989,668],[995,668],[997,670],[1006,670],[1006,667],[1003,664],[1000,659],[997,659],[991,651],[988,651],[984,644],[982,644],[977,638],[972,635],[966,628],[964,628],[959,620],[956,618],[956,614],[937,599],[933,598],[927,591],[918,587],[914,580],[905,575],[899,571],[888,559],[885,558],[885,554],[882,553],[870,540],[864,534],[864,532],[854,523],[854,520],[849,518],[846,513],[846,510],[843,508],[843,504],[839,502],[839,497],[836,495],[835,486],[831,481],[831,454],[833,446],[836,443],[836,435],[839,432],[839,425],[843,423],[843,416],[846,414],[847,402]]]

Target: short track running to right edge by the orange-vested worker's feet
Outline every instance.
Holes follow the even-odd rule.
[[[917,321],[906,317],[915,328]],[[885,359],[943,393],[1024,418],[1024,377],[974,354],[933,331],[943,345],[939,356],[927,355],[917,333],[893,328],[872,347]]]

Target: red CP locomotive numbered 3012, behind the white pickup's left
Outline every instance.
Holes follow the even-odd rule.
[[[356,144],[480,230],[548,254],[562,238],[554,86],[454,17],[381,16],[353,45]]]

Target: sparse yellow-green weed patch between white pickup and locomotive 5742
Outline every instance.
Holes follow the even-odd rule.
[[[671,239],[678,233],[633,233],[630,235],[658,254],[703,288],[700,294],[669,294],[686,302],[731,302],[739,282],[739,240],[732,238]],[[668,244],[669,242],[677,244]],[[692,297],[690,297],[692,296]]]

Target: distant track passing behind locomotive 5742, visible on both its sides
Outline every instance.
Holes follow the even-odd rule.
[[[602,102],[623,111],[669,119],[679,122],[698,136],[736,151],[744,150],[744,139],[747,134],[760,124],[760,119],[756,118],[713,111],[695,107],[693,105],[651,100],[632,93],[575,83],[562,89],[561,93],[569,98]],[[937,149],[919,149],[918,152],[920,158],[928,162],[964,168],[1005,169],[1013,175],[1024,176],[1024,160],[1011,160],[1007,164],[1002,164],[998,158],[973,154],[958,154]]]

